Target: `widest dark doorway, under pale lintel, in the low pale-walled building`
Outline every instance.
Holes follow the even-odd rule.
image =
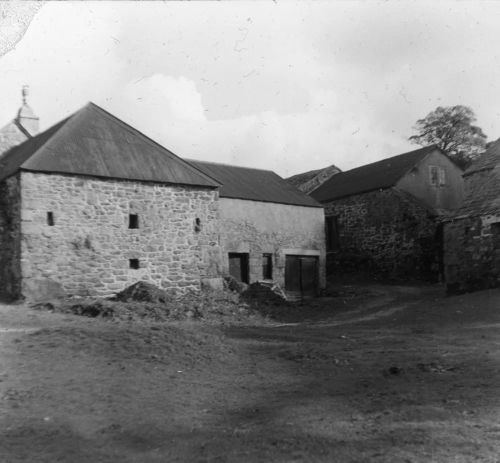
[[[318,258],[316,256],[286,256],[285,289],[292,295],[316,296]]]

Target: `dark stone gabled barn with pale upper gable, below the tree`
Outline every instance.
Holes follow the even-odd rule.
[[[325,207],[329,268],[438,279],[440,217],[462,189],[461,169],[435,146],[337,173],[310,193]]]

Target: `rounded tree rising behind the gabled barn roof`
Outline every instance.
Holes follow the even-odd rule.
[[[486,135],[477,125],[474,111],[467,106],[439,106],[415,124],[416,135],[409,140],[418,145],[437,145],[462,167],[480,156]]]

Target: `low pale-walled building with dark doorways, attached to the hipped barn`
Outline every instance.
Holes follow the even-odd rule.
[[[191,161],[222,184],[222,269],[244,283],[277,283],[290,297],[325,286],[323,208],[274,172]]]

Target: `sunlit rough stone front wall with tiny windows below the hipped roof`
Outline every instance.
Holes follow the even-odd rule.
[[[21,184],[25,296],[109,295],[138,280],[183,293],[220,273],[216,190],[30,172]]]

